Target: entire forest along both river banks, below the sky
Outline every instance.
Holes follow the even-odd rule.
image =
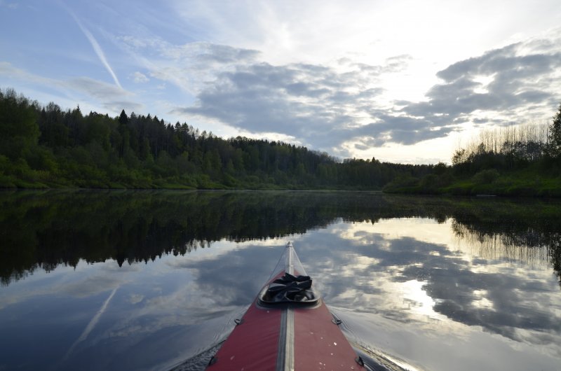
[[[0,188],[384,190],[561,197],[561,106],[551,123],[480,133],[452,165],[345,159],[304,146],[223,139],[148,114],[42,106],[0,90]]]

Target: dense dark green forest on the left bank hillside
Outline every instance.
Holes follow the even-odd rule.
[[[63,111],[0,90],[0,187],[381,189],[431,165],[342,162],[302,146],[222,139],[187,123],[79,106]]]

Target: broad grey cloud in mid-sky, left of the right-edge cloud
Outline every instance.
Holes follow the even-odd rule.
[[[176,112],[248,132],[278,132],[328,148],[337,146],[341,135],[353,136],[349,127],[360,125],[356,105],[368,106],[382,94],[380,87],[363,84],[367,73],[371,71],[365,72],[365,66],[338,72],[310,64],[238,64],[207,84],[196,105]]]

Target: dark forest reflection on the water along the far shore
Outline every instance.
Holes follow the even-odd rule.
[[[380,193],[18,191],[0,193],[3,285],[79,260],[149,262],[213,241],[303,234],[343,221],[452,218],[486,258],[547,262],[561,275],[561,207],[547,200],[399,197]],[[561,281],[560,281],[561,283]]]

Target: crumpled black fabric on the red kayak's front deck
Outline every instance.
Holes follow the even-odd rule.
[[[311,288],[310,276],[293,276],[285,273],[284,276],[269,284],[262,300],[264,302],[308,302],[316,300],[316,295]]]

